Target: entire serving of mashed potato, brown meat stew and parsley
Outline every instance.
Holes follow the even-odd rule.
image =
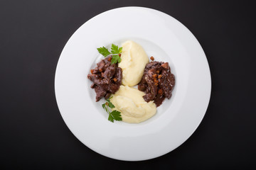
[[[128,40],[122,47],[112,44],[97,48],[105,57],[87,77],[95,89],[96,101],[105,98],[102,108],[114,122],[140,123],[156,114],[165,98],[171,98],[175,77],[168,62],[154,61],[142,46]],[[138,89],[132,86],[138,85]]]

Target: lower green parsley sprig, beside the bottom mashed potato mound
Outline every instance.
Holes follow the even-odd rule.
[[[111,97],[112,98],[112,97]],[[110,112],[110,108],[114,108],[113,103],[111,103],[110,98],[106,99],[106,103],[102,104],[102,108],[109,113],[110,122],[114,123],[114,120],[120,121],[122,120],[121,113],[119,111],[112,111]]]

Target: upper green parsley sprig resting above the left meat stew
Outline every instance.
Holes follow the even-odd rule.
[[[99,47],[97,48],[98,52],[102,54],[104,57],[107,57],[109,55],[112,55],[111,64],[121,62],[120,55],[122,53],[122,47],[118,47],[117,45],[112,44],[111,45],[111,52],[107,50],[106,47]]]

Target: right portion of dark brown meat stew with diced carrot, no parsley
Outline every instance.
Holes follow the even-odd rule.
[[[150,62],[146,64],[142,80],[138,89],[145,91],[143,96],[146,102],[154,101],[156,106],[160,106],[164,98],[171,98],[171,91],[175,85],[174,74],[168,62]]]

